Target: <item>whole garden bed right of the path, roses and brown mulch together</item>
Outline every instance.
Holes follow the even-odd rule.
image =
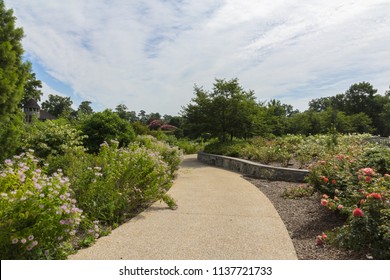
[[[299,162],[309,170],[307,185],[251,179],[279,211],[300,258],[388,259],[390,149],[365,138],[331,134],[305,142],[304,137],[287,136],[215,143],[206,151],[259,161],[265,155],[264,163],[279,158],[285,166],[293,158],[305,159]]]

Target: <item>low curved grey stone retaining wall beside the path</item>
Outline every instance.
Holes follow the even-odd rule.
[[[308,170],[274,167],[249,160],[226,157],[204,152],[198,153],[198,160],[208,165],[239,172],[241,174],[271,181],[304,182]]]

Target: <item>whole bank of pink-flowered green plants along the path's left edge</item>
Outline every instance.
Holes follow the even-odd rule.
[[[180,161],[176,148],[150,137],[126,148],[103,143],[96,155],[71,147],[44,165],[32,151],[6,160],[1,259],[65,259],[156,200],[174,208],[166,191]]]

